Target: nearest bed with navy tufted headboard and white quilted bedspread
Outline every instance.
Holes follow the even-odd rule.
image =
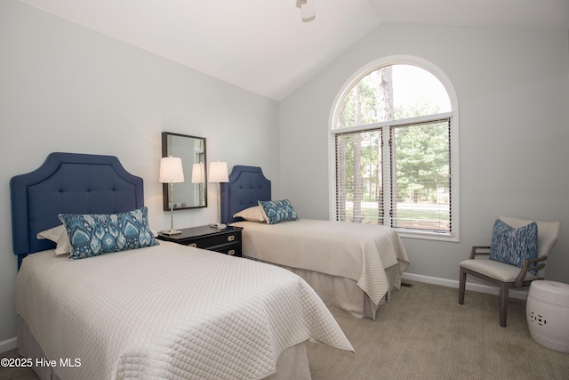
[[[131,198],[140,206],[141,180],[117,189],[106,179],[116,175],[118,161],[110,161],[112,174],[101,172],[106,156],[57,153],[12,178],[19,351],[54,363],[35,368],[41,378],[309,378],[307,340],[353,351],[325,304],[290,271],[165,241],[68,260],[37,240],[63,205],[66,213],[83,210],[86,198],[105,213],[102,204],[118,213]],[[73,190],[60,186],[68,174]],[[77,185],[82,177],[90,183]]]

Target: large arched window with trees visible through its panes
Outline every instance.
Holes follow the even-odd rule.
[[[456,101],[449,87],[432,64],[413,59],[375,62],[344,86],[331,125],[336,220],[458,240]]]

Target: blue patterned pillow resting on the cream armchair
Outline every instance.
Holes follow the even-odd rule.
[[[490,259],[523,267],[525,259],[537,257],[537,223],[515,229],[500,219],[494,222]]]

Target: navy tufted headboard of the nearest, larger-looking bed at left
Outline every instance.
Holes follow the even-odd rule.
[[[18,265],[55,244],[36,239],[61,222],[58,214],[115,214],[144,206],[142,178],[113,156],[51,153],[42,166],[12,177],[12,246]]]

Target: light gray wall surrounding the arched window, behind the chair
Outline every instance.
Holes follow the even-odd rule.
[[[301,217],[329,217],[328,130],[358,69],[394,55],[434,63],[460,107],[461,241],[405,239],[408,273],[450,282],[501,214],[561,221],[548,278],[569,282],[569,41],[566,31],[382,25],[281,101],[282,192]]]

